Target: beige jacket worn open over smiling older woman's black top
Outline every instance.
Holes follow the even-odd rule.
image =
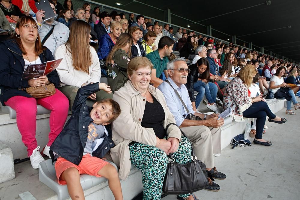
[[[170,123],[176,123],[174,116],[167,107],[163,93],[152,85],[148,86],[149,92],[158,100],[165,112],[164,127]],[[130,172],[131,161],[129,143],[132,141],[147,145],[156,145],[156,136],[152,128],[144,128],[141,122],[146,106],[146,98],[141,96],[132,85],[131,81],[125,83],[113,94],[113,100],[120,104],[121,114],[113,121],[113,141],[116,147],[110,149],[113,162],[120,168],[119,178],[125,180]],[[168,137],[174,137],[181,142],[181,133],[177,126],[170,126]]]

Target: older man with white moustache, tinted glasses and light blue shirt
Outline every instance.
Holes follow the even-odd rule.
[[[188,90],[184,85],[187,83],[187,75],[190,72],[184,58],[175,58],[168,62],[167,71],[169,77],[159,85],[158,89],[164,94],[167,106],[174,115],[176,124],[191,140],[197,159],[205,163],[208,177],[225,179],[225,174],[217,172],[213,158],[213,154],[221,153],[220,127],[224,124],[224,119],[218,118],[217,114],[204,115],[193,111]],[[188,111],[183,104],[185,104]],[[198,116],[202,120],[186,119],[188,114]],[[218,184],[212,181],[209,182],[210,184],[205,190],[220,190]]]

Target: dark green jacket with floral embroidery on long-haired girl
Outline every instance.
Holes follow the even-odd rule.
[[[127,53],[118,49],[113,56],[113,60],[107,66],[107,83],[113,92],[124,86],[128,80],[127,65],[130,61]]]

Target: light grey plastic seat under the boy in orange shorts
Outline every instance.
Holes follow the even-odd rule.
[[[113,166],[116,167],[116,169],[118,169],[114,163],[110,162],[110,164],[112,164]],[[45,160],[44,162],[40,163],[39,180],[56,192],[58,200],[64,200],[70,197],[68,193],[67,185],[58,184],[55,168],[54,165],[52,165],[51,159]],[[95,187],[106,181],[107,181],[106,178],[103,177],[98,178],[87,174],[80,175],[80,184],[82,186],[83,191]]]

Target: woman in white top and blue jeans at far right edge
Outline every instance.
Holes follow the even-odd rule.
[[[272,76],[272,78],[270,79],[269,89],[273,90],[273,92],[275,94],[274,95],[275,98],[278,97],[278,94],[280,93],[280,88],[285,88],[286,87],[286,83],[283,82],[283,75],[285,73],[286,73],[286,68],[284,66],[281,66],[277,69],[274,76]],[[290,99],[290,100],[286,100],[286,112],[285,112],[285,114],[295,115],[295,113],[292,112],[292,110],[291,110],[292,102],[295,105],[295,110],[297,110],[297,108],[300,108],[300,105],[296,100],[296,96],[294,94],[294,91],[289,90],[288,94],[289,94],[288,97],[283,97],[283,98]]]

